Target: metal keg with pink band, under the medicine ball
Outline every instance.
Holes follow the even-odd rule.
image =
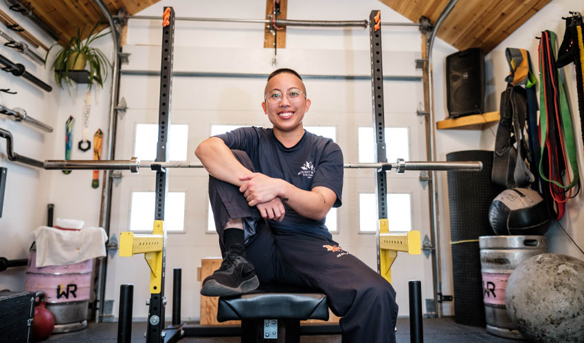
[[[515,268],[526,259],[548,252],[546,236],[479,237],[486,332],[524,339],[507,314],[505,287]]]

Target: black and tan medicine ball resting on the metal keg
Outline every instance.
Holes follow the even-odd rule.
[[[496,235],[543,235],[550,226],[550,216],[537,191],[513,188],[491,202],[488,222]]]

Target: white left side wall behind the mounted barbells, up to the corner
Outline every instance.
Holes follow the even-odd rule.
[[[5,3],[0,3],[0,9],[8,13],[17,23],[29,30],[34,36],[50,45],[47,37],[36,27],[24,19],[20,14],[12,12]],[[14,13],[14,14],[13,14]],[[4,25],[3,32],[8,33],[15,40],[23,41],[16,32],[10,31]],[[0,38],[5,43],[4,38]],[[25,41],[25,43],[27,43]],[[30,43],[28,43],[30,46]],[[43,56],[43,49],[33,49],[39,56]],[[52,82],[52,73],[27,56],[14,49],[2,47],[1,53],[14,63],[21,63],[26,71],[47,84]],[[27,115],[38,119],[55,128],[55,111],[58,108],[60,92],[53,89],[47,93],[41,88],[28,82],[24,78],[16,78],[11,73],[0,72],[1,88],[10,88],[18,92],[15,95],[0,93],[0,104],[8,108],[20,107],[26,110]],[[47,133],[23,122],[17,123],[8,116],[0,114],[0,127],[12,133],[14,152],[19,155],[43,160],[54,143],[55,132]],[[3,213],[0,218],[0,256],[7,259],[25,259],[30,246],[29,235],[36,228],[46,222],[47,202],[49,201],[48,184],[49,173],[36,167],[8,161],[6,156],[6,140],[0,139],[0,166],[8,168],[5,185]],[[11,268],[0,273],[0,289],[19,290],[24,287],[24,268]]]

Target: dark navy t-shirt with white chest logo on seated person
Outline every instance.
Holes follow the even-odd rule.
[[[284,147],[271,128],[255,126],[238,128],[216,137],[223,139],[230,149],[246,152],[254,163],[256,172],[271,178],[281,178],[305,191],[317,186],[327,187],[337,195],[333,206],[341,206],[343,153],[332,139],[304,131],[302,139],[296,145]],[[302,217],[285,202],[284,208],[284,220],[270,220],[271,227],[332,237],[324,225],[324,219]]]

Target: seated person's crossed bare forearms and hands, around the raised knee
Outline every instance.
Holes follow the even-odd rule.
[[[223,139],[210,137],[194,150],[211,176],[239,187],[249,206],[257,206],[262,217],[284,219],[282,200],[299,215],[322,220],[337,200],[333,190],[313,187],[305,191],[280,178],[253,173],[235,158]]]

